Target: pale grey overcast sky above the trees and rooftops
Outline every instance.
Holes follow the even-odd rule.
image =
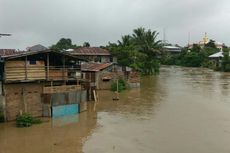
[[[60,38],[91,46],[116,42],[134,28],[156,30],[182,46],[209,38],[230,45],[229,0],[0,0],[0,48],[50,46]]]

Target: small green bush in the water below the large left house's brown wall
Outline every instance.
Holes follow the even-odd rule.
[[[32,124],[39,124],[39,123],[41,123],[40,119],[35,119],[28,113],[23,113],[22,115],[18,115],[16,118],[17,127],[29,127]]]

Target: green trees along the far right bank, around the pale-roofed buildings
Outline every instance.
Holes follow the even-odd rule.
[[[216,66],[213,60],[210,60],[209,56],[220,52],[221,50],[216,47],[215,41],[210,40],[204,47],[200,47],[197,44],[193,44],[192,48],[183,47],[179,54],[163,54],[161,63],[165,65],[178,65],[185,67],[206,67],[218,71],[230,71],[230,58],[229,48],[223,46],[223,58],[216,59],[215,62],[219,62],[220,66]]]

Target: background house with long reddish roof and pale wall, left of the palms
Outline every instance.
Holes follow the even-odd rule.
[[[116,57],[113,57],[106,49],[99,47],[80,47],[68,50],[73,56],[85,59],[90,62],[116,63]]]

